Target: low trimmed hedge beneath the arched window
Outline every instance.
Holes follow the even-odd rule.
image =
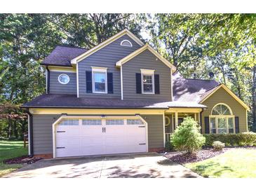
[[[213,142],[220,141],[225,146],[255,146],[256,145],[256,133],[255,132],[243,132],[238,134],[206,134],[205,146],[213,146]]]

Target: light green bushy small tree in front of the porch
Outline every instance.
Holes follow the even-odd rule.
[[[191,117],[184,118],[173,134],[172,142],[178,151],[186,151],[191,154],[201,149],[206,138],[200,133],[201,127]]]

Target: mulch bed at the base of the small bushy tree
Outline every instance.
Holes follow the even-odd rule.
[[[201,160],[206,160],[208,158],[213,158],[218,156],[229,149],[223,149],[222,151],[215,151],[213,149],[201,149],[195,154],[188,155],[187,153],[182,153],[180,151],[166,153],[166,158],[172,160],[175,163],[185,164],[185,163],[194,163]]]

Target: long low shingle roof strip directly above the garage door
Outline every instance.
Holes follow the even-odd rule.
[[[155,100],[120,100],[79,97],[76,95],[44,94],[27,102],[22,107],[38,108],[104,108],[104,109],[168,109],[169,107],[205,108],[196,102],[170,102]]]

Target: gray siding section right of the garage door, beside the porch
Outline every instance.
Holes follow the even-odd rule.
[[[163,148],[163,116],[142,115],[147,121],[147,134],[149,149]]]

